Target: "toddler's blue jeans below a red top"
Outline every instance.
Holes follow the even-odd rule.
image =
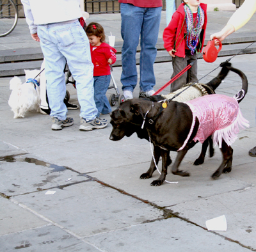
[[[109,114],[111,107],[106,97],[106,92],[109,87],[111,75],[94,76],[94,100],[98,109],[97,117],[102,114]]]

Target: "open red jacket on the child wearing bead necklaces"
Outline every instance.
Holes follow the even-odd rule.
[[[204,46],[204,38],[205,38],[205,29],[207,24],[207,4],[201,3],[201,8],[204,10],[204,24],[202,27],[202,31],[200,33],[200,41],[202,47],[200,47],[200,43],[196,46],[196,51],[201,52]],[[173,13],[172,20],[170,24],[164,29],[163,40],[164,40],[164,48],[166,51],[171,51],[175,45],[175,55],[178,57],[185,57],[185,46],[186,46],[186,38],[184,38],[184,26],[186,25],[185,11],[184,11],[184,3],[180,4],[179,8],[175,13]],[[184,22],[183,28],[182,24]],[[180,31],[181,30],[181,31]],[[175,41],[177,41],[175,43]],[[178,46],[178,47],[177,47]]]

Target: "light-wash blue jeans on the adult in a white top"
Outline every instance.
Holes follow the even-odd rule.
[[[60,120],[67,118],[67,107],[63,103],[66,95],[66,61],[76,80],[80,116],[93,120],[97,108],[93,99],[93,63],[89,40],[78,21],[38,26],[38,36],[45,58],[45,78],[51,116]]]

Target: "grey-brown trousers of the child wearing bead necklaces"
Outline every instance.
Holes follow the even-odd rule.
[[[194,65],[189,68],[184,74],[182,74],[176,81],[173,81],[171,86],[171,92],[179,90],[183,85],[187,83],[197,82],[197,55],[194,52],[191,55],[191,51],[186,50],[185,58],[175,56],[172,58],[172,67],[173,67],[173,78],[175,75],[179,74],[184,68],[186,68],[191,62],[195,62]]]

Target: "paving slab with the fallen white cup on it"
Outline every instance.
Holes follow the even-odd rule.
[[[255,176],[253,175],[255,178]],[[212,195],[211,197],[200,197],[192,202],[185,202],[172,206],[175,212],[182,212],[182,216],[189,221],[204,228],[205,221],[214,217],[225,215],[227,219],[227,232],[217,232],[225,237],[237,240],[241,244],[246,244],[251,249],[256,249],[255,240],[255,214],[256,188],[246,187],[242,190],[232,191],[223,194]],[[246,206],[246,211],[244,207]],[[200,219],[200,221],[198,221]]]

